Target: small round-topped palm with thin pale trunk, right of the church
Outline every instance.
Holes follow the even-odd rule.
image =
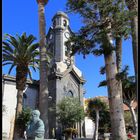
[[[96,120],[95,120],[95,130],[93,135],[93,140],[98,140],[98,128],[99,128],[99,112],[107,108],[105,102],[103,102],[99,97],[95,97],[88,101],[87,110],[96,112]]]

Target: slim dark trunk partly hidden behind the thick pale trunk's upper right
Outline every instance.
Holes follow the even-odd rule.
[[[120,72],[122,66],[122,39],[120,37],[116,38],[116,64],[117,70]]]

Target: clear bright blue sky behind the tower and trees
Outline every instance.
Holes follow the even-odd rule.
[[[67,0],[49,0],[45,7],[46,16],[46,33],[51,26],[51,20],[57,11],[66,11]],[[76,14],[68,14],[70,18],[70,27],[76,32],[82,25],[81,18]],[[39,25],[38,25],[38,5],[36,0],[2,0],[2,34],[9,33],[11,35],[26,32],[27,35],[33,34],[39,41]],[[131,39],[123,42],[123,66],[129,65],[130,75],[134,74],[132,45]],[[76,66],[83,72],[86,80],[84,88],[86,90],[85,97],[104,96],[107,95],[107,89],[98,88],[100,81],[105,76],[99,74],[101,66],[104,66],[103,56],[95,57],[89,55],[83,59],[82,55],[76,55]],[[8,72],[8,66],[3,67],[3,74]],[[11,73],[15,75],[15,71]],[[39,79],[38,73],[33,73],[34,79]]]

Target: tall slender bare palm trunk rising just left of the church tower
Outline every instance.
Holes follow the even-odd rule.
[[[40,92],[39,110],[41,118],[45,123],[45,138],[49,137],[48,125],[48,78],[46,59],[46,22],[45,8],[43,3],[38,3],[39,10],[39,31],[40,31]]]

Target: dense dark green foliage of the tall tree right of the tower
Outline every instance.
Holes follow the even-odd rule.
[[[73,53],[100,56],[115,49],[102,45],[103,40],[106,40],[104,35],[111,32],[111,38],[115,41],[117,37],[127,38],[130,34],[130,13],[120,0],[69,0],[67,8],[79,13],[84,23],[79,33],[71,37],[71,41],[77,42],[73,44]]]

